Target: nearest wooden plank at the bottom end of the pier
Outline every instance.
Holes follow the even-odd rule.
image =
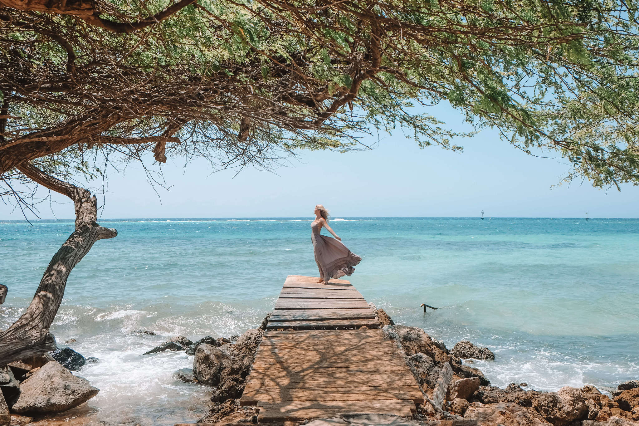
[[[291,402],[259,407],[258,423],[276,420],[305,420],[356,413],[380,413],[411,417],[415,404],[410,400]]]

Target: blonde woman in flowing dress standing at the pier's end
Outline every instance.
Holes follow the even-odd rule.
[[[355,272],[353,266],[357,265],[362,258],[357,254],[351,253],[351,250],[343,245],[341,238],[328,226],[328,210],[321,204],[315,206],[315,220],[311,224],[312,234],[311,241],[313,243],[313,252],[315,253],[315,262],[318,264],[319,281],[328,284],[330,278],[339,278],[344,275],[350,275]],[[333,238],[319,234],[322,227],[326,227],[328,232],[333,234]]]

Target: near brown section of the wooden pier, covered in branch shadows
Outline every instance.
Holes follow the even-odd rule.
[[[243,405],[258,419],[343,413],[410,416],[422,394],[381,330],[266,331]]]

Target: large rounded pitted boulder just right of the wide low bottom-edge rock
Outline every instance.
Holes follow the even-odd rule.
[[[567,426],[575,420],[585,420],[588,415],[580,390],[569,386],[543,393],[532,401],[532,407],[555,426]]]

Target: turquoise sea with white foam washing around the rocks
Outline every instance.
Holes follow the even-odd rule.
[[[183,353],[140,356],[168,336],[233,335],[270,312],[289,274],[316,275],[310,218],[102,220],[73,270],[52,331],[100,363],[79,372],[101,389],[106,420],[192,421],[210,390],[175,381]],[[475,367],[498,386],[538,390],[639,378],[639,220],[337,218],[363,257],[351,282],[397,323],[451,347],[490,347]],[[72,221],[0,223],[0,328],[27,303]],[[422,312],[420,303],[439,310]],[[134,330],[153,330],[141,336]]]

